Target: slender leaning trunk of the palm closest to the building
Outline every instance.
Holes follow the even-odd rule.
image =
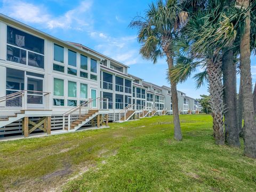
[[[170,53],[166,53],[169,71],[173,67],[173,59]],[[171,80],[171,94],[172,94],[172,111],[174,122],[174,138],[178,141],[182,140],[182,133],[180,129],[180,117],[178,107],[178,93],[176,83]]]

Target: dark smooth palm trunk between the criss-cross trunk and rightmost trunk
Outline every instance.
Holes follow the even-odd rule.
[[[230,146],[240,147],[237,125],[236,64],[232,43],[222,50],[223,102],[225,106],[225,140]]]

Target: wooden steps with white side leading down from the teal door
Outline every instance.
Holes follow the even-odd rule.
[[[75,128],[79,129],[79,127],[83,126],[85,123],[89,122],[99,110],[90,109],[87,114],[81,115],[76,121],[70,124],[70,130],[74,130]],[[68,130],[68,127],[65,126],[65,130]]]

